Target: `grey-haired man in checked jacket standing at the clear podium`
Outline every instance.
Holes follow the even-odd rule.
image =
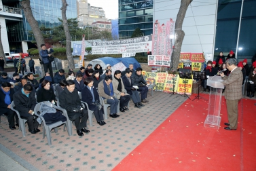
[[[225,86],[225,99],[227,104],[228,122],[224,123],[225,130],[236,130],[238,127],[238,102],[242,98],[242,71],[237,67],[236,59],[230,58],[226,61],[227,69],[230,72],[228,77],[220,73],[222,83]]]

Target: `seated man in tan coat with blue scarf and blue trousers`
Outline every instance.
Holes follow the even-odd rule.
[[[112,86],[112,77],[107,75],[104,80],[98,83],[98,95],[102,96],[105,103],[110,104],[110,115],[109,117],[119,117],[117,115],[117,107],[119,100],[114,97],[113,86]]]

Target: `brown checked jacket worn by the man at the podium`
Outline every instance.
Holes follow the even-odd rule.
[[[233,72],[222,77],[225,86],[225,99],[240,100],[242,98],[242,71],[236,67]]]

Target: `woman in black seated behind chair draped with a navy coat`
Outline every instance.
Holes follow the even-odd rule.
[[[43,80],[41,87],[42,88],[37,91],[37,102],[49,101],[55,104],[56,97],[54,90],[50,86],[50,82],[48,80]]]

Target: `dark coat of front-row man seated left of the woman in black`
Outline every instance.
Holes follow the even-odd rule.
[[[22,94],[21,90],[14,93],[14,104],[20,115],[29,113],[29,110],[34,111],[36,103],[37,101],[35,100],[35,91],[32,91],[29,94],[29,97]]]

